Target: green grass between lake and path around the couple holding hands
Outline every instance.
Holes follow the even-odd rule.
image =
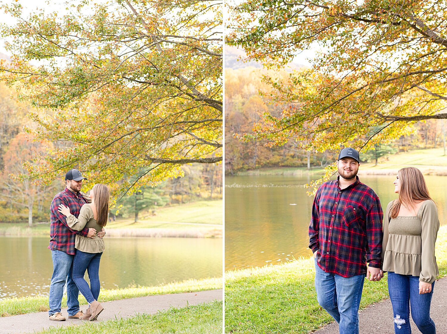
[[[436,258],[447,275],[447,225],[439,229]],[[314,260],[225,273],[225,332],[308,334],[333,321],[320,308],[314,288]],[[388,298],[385,278],[365,281],[360,308]]]

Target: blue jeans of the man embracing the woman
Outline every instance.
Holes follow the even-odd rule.
[[[50,310],[48,313],[60,312],[63,296],[63,286],[67,282],[67,306],[68,315],[72,316],[79,312],[78,295],[79,290],[72,278],[74,255],[60,250],[52,250],[53,275],[50,283]]]

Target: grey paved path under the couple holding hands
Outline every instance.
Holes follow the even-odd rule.
[[[436,325],[436,333],[447,333],[447,278],[436,281],[431,300],[430,317]],[[410,316],[411,318],[411,316]],[[358,315],[359,334],[394,334],[394,317],[389,299],[368,306]],[[413,320],[410,321],[411,332],[421,334]],[[314,332],[314,334],[337,334],[338,324],[333,322]]]

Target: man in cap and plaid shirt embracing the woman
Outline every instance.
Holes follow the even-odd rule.
[[[68,227],[66,217],[59,212],[59,204],[70,208],[70,212],[76,218],[80,208],[87,203],[88,196],[80,192],[84,178],[77,169],[70,169],[65,175],[66,188],[57,194],[51,202],[51,240],[48,246],[51,249],[53,259],[53,275],[50,284],[50,320],[65,321],[61,310],[63,286],[67,282],[67,306],[68,317],[79,319],[84,315],[79,310],[79,289],[72,278],[73,258],[75,254],[75,234],[94,239],[96,230],[84,228],[75,231]],[[104,228],[97,233],[102,238],[105,235]]]

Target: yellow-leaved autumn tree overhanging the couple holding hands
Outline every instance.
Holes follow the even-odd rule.
[[[409,134],[419,120],[447,118],[443,1],[254,0],[232,14],[228,42],[267,67],[320,48],[311,69],[266,79],[272,99],[288,105],[278,117],[265,114],[267,124],[246,139],[368,150]]]

